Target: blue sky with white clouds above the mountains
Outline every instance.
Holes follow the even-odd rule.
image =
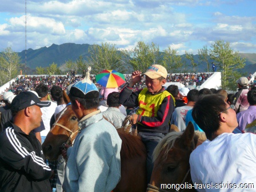
[[[25,50],[25,0],[0,0],[0,51]],[[27,49],[138,41],[197,54],[217,40],[256,53],[255,0],[27,0]]]

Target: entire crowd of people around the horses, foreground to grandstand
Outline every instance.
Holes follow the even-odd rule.
[[[170,123],[183,131],[192,122],[207,137],[191,154],[192,181],[256,187],[256,89],[248,88],[247,77],[237,80],[237,93],[228,94],[207,88],[166,88],[166,82],[200,85],[211,74],[167,74],[161,65],[125,75],[126,83],[115,89],[95,84],[95,76],[89,75],[22,76],[5,90],[0,107],[1,190],[112,191],[121,178],[122,141],[116,130],[129,114],[146,147],[148,183],[153,151],[171,131]],[[66,107],[62,90],[69,94],[79,133],[73,146],[61,149],[58,161],[67,162],[59,172],[53,168],[59,162],[46,161],[41,143]],[[59,173],[63,178],[57,177]]]

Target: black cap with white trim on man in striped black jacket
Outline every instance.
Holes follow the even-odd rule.
[[[18,112],[33,105],[49,107],[51,103],[49,101],[40,101],[37,95],[30,91],[21,92],[11,102],[11,112]]]

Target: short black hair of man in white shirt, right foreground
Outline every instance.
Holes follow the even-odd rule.
[[[192,117],[197,125],[205,131],[207,139],[212,139],[221,125],[219,114],[226,112],[226,102],[221,95],[210,94],[200,98],[194,105]]]

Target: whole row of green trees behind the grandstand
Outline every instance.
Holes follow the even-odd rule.
[[[241,58],[238,51],[233,51],[229,42],[215,41],[210,48],[203,46],[198,50],[198,62],[195,62],[193,53],[185,51],[185,55],[179,55],[177,49],[170,46],[163,51],[155,43],[146,44],[143,41],[137,43],[134,49],[119,50],[113,44],[101,43],[91,45],[86,58],[80,56],[76,61],[68,60],[64,66],[66,71],[77,71],[82,74],[84,69],[92,66],[91,74],[98,74],[103,69],[115,69],[127,74],[133,70],[145,71],[153,64],[165,66],[168,73],[196,73],[199,64],[205,66],[205,72],[211,71],[211,62],[218,66],[217,71],[222,73],[222,89],[235,90],[236,79],[241,77],[238,69],[245,66],[245,58]],[[18,75],[21,67],[21,58],[18,53],[7,47],[0,53],[0,85],[10,81]],[[65,74],[56,63],[49,67],[36,67],[36,73],[57,75]]]

